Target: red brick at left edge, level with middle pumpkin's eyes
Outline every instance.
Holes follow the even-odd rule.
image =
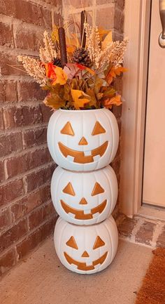
[[[6,185],[0,186],[0,206],[8,204],[24,194],[24,187],[21,179],[13,180]]]

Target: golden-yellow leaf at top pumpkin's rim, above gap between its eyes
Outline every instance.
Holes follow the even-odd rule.
[[[80,110],[81,107],[85,107],[85,104],[89,103],[89,95],[86,95],[83,91],[71,89],[71,96],[74,101],[74,107],[76,110]],[[83,98],[84,97],[84,98]]]

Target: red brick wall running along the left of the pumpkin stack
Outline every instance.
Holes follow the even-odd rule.
[[[59,1],[59,0],[58,0]],[[46,145],[50,110],[31,77],[10,65],[38,55],[45,29],[59,22],[60,1],[0,1],[0,275],[52,232],[55,210]]]

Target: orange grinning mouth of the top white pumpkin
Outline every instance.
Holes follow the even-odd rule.
[[[100,147],[97,147],[96,149],[92,150],[91,155],[85,155],[85,152],[72,150],[60,142],[58,144],[59,150],[62,152],[64,157],[68,157],[68,155],[70,155],[71,157],[74,157],[73,162],[79,164],[87,164],[94,162],[94,157],[97,155],[102,157],[103,154],[106,152],[106,148],[108,147],[108,141],[106,141]]]

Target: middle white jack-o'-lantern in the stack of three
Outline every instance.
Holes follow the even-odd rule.
[[[110,216],[117,200],[113,168],[71,172],[57,167],[51,181],[52,202],[59,216],[76,225],[100,223]]]

